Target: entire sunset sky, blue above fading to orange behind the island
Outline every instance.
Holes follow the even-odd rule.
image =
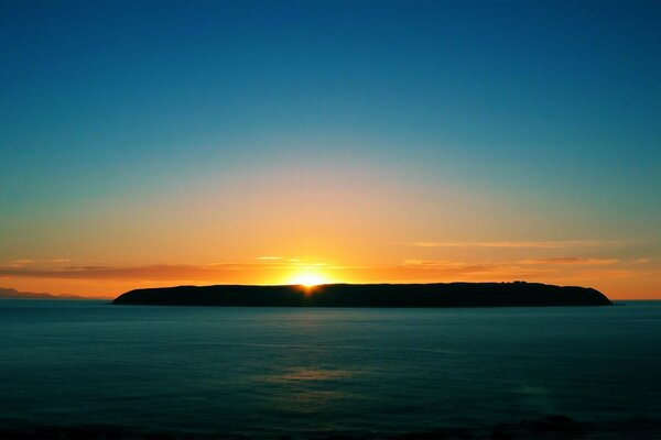
[[[661,299],[661,3],[0,0],[0,287]]]

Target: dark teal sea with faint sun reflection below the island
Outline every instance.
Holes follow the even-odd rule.
[[[545,419],[556,415],[574,421]],[[0,300],[0,437],[661,438],[660,419],[655,301],[269,309]]]

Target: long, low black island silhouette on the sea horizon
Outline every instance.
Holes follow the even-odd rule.
[[[314,287],[178,286],[130,290],[116,305],[225,307],[537,307],[610,306],[588,287],[539,283],[323,284]]]

